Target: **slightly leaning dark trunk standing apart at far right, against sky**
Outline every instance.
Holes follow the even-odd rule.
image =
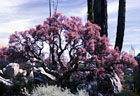
[[[118,25],[117,25],[117,34],[115,48],[118,47],[119,50],[122,50],[123,46],[123,37],[125,30],[125,9],[126,0],[119,0],[119,11],[118,11]]]

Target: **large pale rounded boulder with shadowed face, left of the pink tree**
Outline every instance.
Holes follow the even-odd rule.
[[[3,74],[6,79],[15,77],[19,72],[19,64],[10,63],[3,69]]]

